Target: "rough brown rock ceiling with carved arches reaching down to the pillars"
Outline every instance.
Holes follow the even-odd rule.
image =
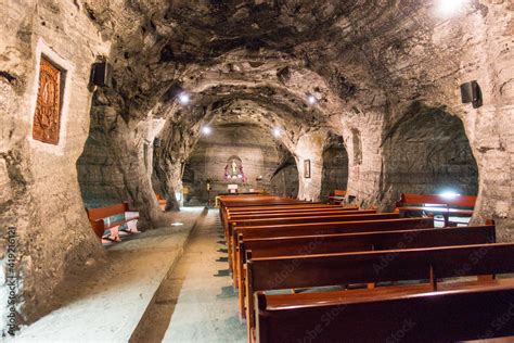
[[[371,137],[367,166],[380,174],[381,141],[413,104],[455,114],[462,75],[484,60],[474,51],[485,51],[478,45],[487,39],[475,37],[475,23],[494,34],[489,22],[498,13],[488,15],[484,3],[470,1],[448,21],[436,1],[85,1],[112,42],[115,84],[94,92],[91,132],[100,123],[100,135],[113,136],[119,116],[128,131],[166,119],[154,168],[169,189],[213,120],[284,128],[281,143],[293,153],[312,148],[299,142],[306,134],[334,131],[347,141],[362,132]],[[177,85],[190,105],[175,101]]]

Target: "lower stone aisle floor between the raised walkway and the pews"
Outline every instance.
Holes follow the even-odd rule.
[[[196,225],[132,342],[246,342],[217,209]]]

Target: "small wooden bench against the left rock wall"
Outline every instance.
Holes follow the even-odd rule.
[[[129,208],[128,203],[121,203],[99,208],[86,208],[89,217],[89,223],[93,228],[94,233],[101,239],[112,242],[119,242],[120,238],[118,231],[124,231],[130,234],[139,233],[137,223],[139,214]],[[111,217],[120,216],[121,218],[111,221]],[[127,225],[127,228],[119,227]],[[130,225],[130,227],[128,227]],[[111,230],[111,234],[105,236],[105,230]]]

